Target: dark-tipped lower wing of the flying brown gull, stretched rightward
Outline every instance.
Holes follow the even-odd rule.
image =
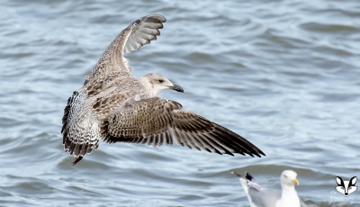
[[[177,142],[220,155],[265,155],[233,131],[183,110],[180,103],[158,97],[123,103],[107,121],[103,121],[100,136],[108,143],[120,141],[161,146]]]

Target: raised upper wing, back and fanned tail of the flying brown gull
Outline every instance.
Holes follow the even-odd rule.
[[[83,87],[68,98],[61,133],[70,155],[84,157],[98,148],[99,122],[139,93],[139,79],[130,73],[129,60],[123,54],[157,40],[158,29],[165,22],[161,15],[148,15],[130,23],[103,52],[92,73],[85,76]]]

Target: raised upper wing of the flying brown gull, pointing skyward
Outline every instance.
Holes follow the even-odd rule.
[[[93,73],[86,79],[104,72],[111,73],[121,70],[130,72],[128,59],[124,58],[123,54],[142,48],[149,44],[150,40],[157,40],[157,36],[160,35],[158,29],[162,29],[165,22],[166,18],[162,15],[148,15],[130,23],[103,52]]]

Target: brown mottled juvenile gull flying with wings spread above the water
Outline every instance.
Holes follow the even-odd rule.
[[[165,76],[131,74],[123,54],[157,40],[165,22],[162,15],[148,15],[131,23],[103,52],[93,72],[85,76],[83,87],[68,98],[61,133],[65,151],[76,156],[73,165],[99,147],[99,137],[106,143],[161,146],[177,142],[220,155],[265,156],[233,131],[184,110],[180,103],[157,97],[166,89],[184,92]]]

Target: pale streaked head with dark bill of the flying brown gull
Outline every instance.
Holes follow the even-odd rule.
[[[165,76],[160,74],[151,73],[146,76],[142,76],[140,81],[145,87],[147,87],[148,90],[152,91],[152,96],[154,97],[166,89],[172,89],[184,93],[182,87],[179,85],[174,85]]]

